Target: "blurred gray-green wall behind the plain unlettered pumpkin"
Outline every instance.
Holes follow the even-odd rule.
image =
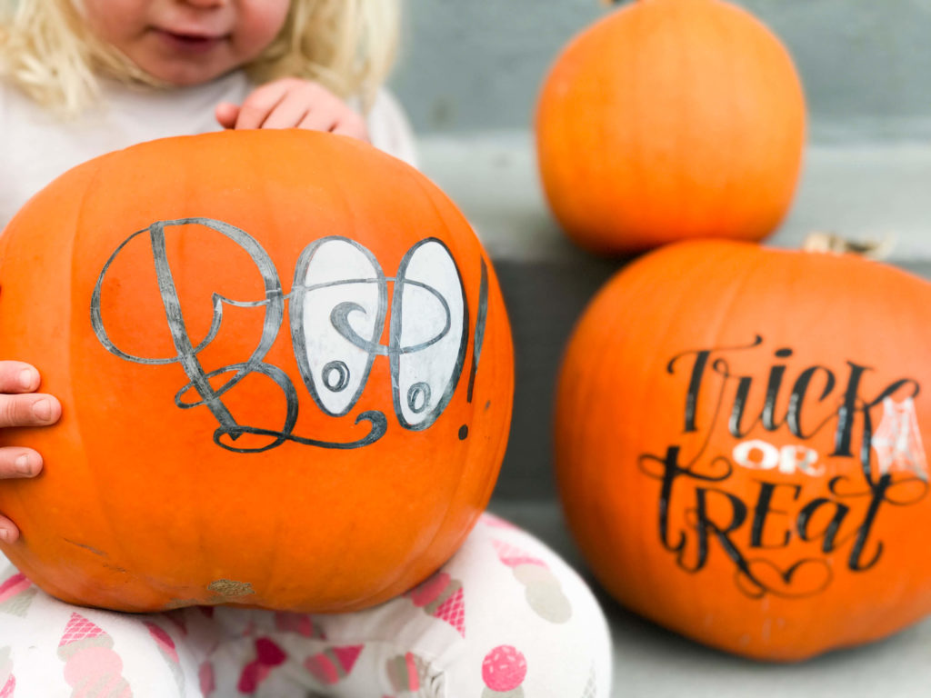
[[[527,128],[560,47],[601,0],[405,0],[392,85],[423,134]],[[931,138],[931,0],[738,0],[802,75],[815,141]]]

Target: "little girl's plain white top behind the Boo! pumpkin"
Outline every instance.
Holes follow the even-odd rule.
[[[220,130],[214,109],[254,89],[235,72],[196,87],[160,90],[101,81],[101,104],[62,121],[0,83],[0,230],[26,200],[66,170],[142,141]],[[372,144],[414,164],[411,127],[398,102],[378,94],[366,117]]]

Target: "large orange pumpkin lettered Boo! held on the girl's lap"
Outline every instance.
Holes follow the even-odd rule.
[[[125,611],[350,611],[436,570],[504,455],[512,346],[479,240],[413,168],[305,131],[145,143],[0,238],[0,356],[61,423],[3,552]]]

